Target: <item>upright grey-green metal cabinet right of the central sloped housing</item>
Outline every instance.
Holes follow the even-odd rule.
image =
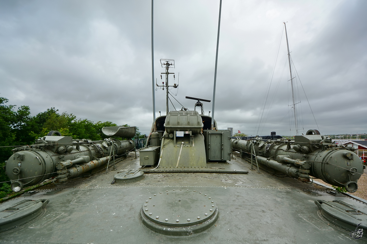
[[[207,161],[230,161],[232,144],[227,129],[203,130]]]

